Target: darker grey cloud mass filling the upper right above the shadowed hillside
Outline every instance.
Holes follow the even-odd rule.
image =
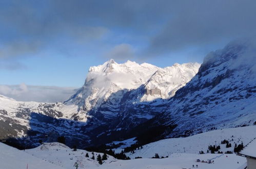
[[[150,39],[147,54],[204,48],[222,41],[256,34],[255,1],[184,1],[171,9],[172,17]]]

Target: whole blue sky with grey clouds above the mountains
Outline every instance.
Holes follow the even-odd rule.
[[[66,98],[61,91],[82,87],[89,67],[110,58],[202,63],[210,51],[256,34],[255,8],[247,0],[1,0],[0,94],[51,87]]]

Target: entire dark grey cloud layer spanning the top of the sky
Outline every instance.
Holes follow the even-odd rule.
[[[138,52],[145,56],[204,48],[255,34],[255,7],[256,1],[248,0],[1,1],[0,59],[31,55],[49,46],[69,53],[76,43],[101,41],[109,32],[126,32],[133,39],[143,36],[148,47]],[[112,41],[109,48],[127,43],[113,37],[103,41]],[[133,43],[136,40],[129,44]]]

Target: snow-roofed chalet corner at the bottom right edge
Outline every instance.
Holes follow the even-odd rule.
[[[238,155],[246,157],[247,168],[256,169],[256,139],[254,138],[244,149],[238,153]]]

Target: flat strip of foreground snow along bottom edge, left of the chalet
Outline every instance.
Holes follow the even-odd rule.
[[[154,169],[181,169],[181,168],[192,168],[192,165],[196,168],[207,168],[207,169],[238,169],[245,165],[246,159],[237,155],[221,155],[220,154],[172,154],[168,158],[164,159],[133,159],[133,160],[118,160],[108,164],[103,164],[98,168],[112,169],[132,169],[132,168],[154,168]],[[216,157],[216,158],[215,158]],[[215,158],[215,159],[213,159]],[[208,160],[213,159],[214,162],[211,164],[205,162],[196,162],[196,159]],[[238,163],[239,162],[239,163]]]

